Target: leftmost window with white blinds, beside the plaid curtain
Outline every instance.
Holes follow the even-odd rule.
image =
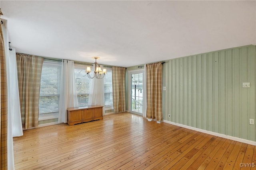
[[[39,117],[59,113],[61,63],[44,61],[39,95]],[[51,118],[56,118],[53,116]],[[49,117],[48,117],[49,119]]]

